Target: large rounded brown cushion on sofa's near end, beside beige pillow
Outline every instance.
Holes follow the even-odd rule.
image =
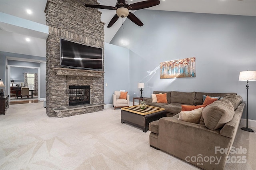
[[[231,121],[234,114],[232,103],[229,100],[220,99],[203,109],[200,125],[205,125],[210,130],[216,130]]]

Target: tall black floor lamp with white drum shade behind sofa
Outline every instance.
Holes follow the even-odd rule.
[[[246,97],[246,127],[242,127],[242,130],[246,130],[248,132],[253,132],[251,128],[248,128],[248,89],[249,89],[249,81],[256,81],[256,71],[241,71],[239,74],[239,81],[247,81],[246,89],[247,89],[247,97]]]

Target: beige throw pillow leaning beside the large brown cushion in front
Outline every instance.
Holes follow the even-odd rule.
[[[181,111],[178,120],[199,124],[204,107],[192,111]]]

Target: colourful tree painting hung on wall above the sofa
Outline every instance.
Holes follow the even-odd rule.
[[[160,63],[160,79],[196,77],[196,57]]]

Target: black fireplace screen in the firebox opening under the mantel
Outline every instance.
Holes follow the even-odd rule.
[[[90,104],[90,86],[69,86],[69,105]]]

